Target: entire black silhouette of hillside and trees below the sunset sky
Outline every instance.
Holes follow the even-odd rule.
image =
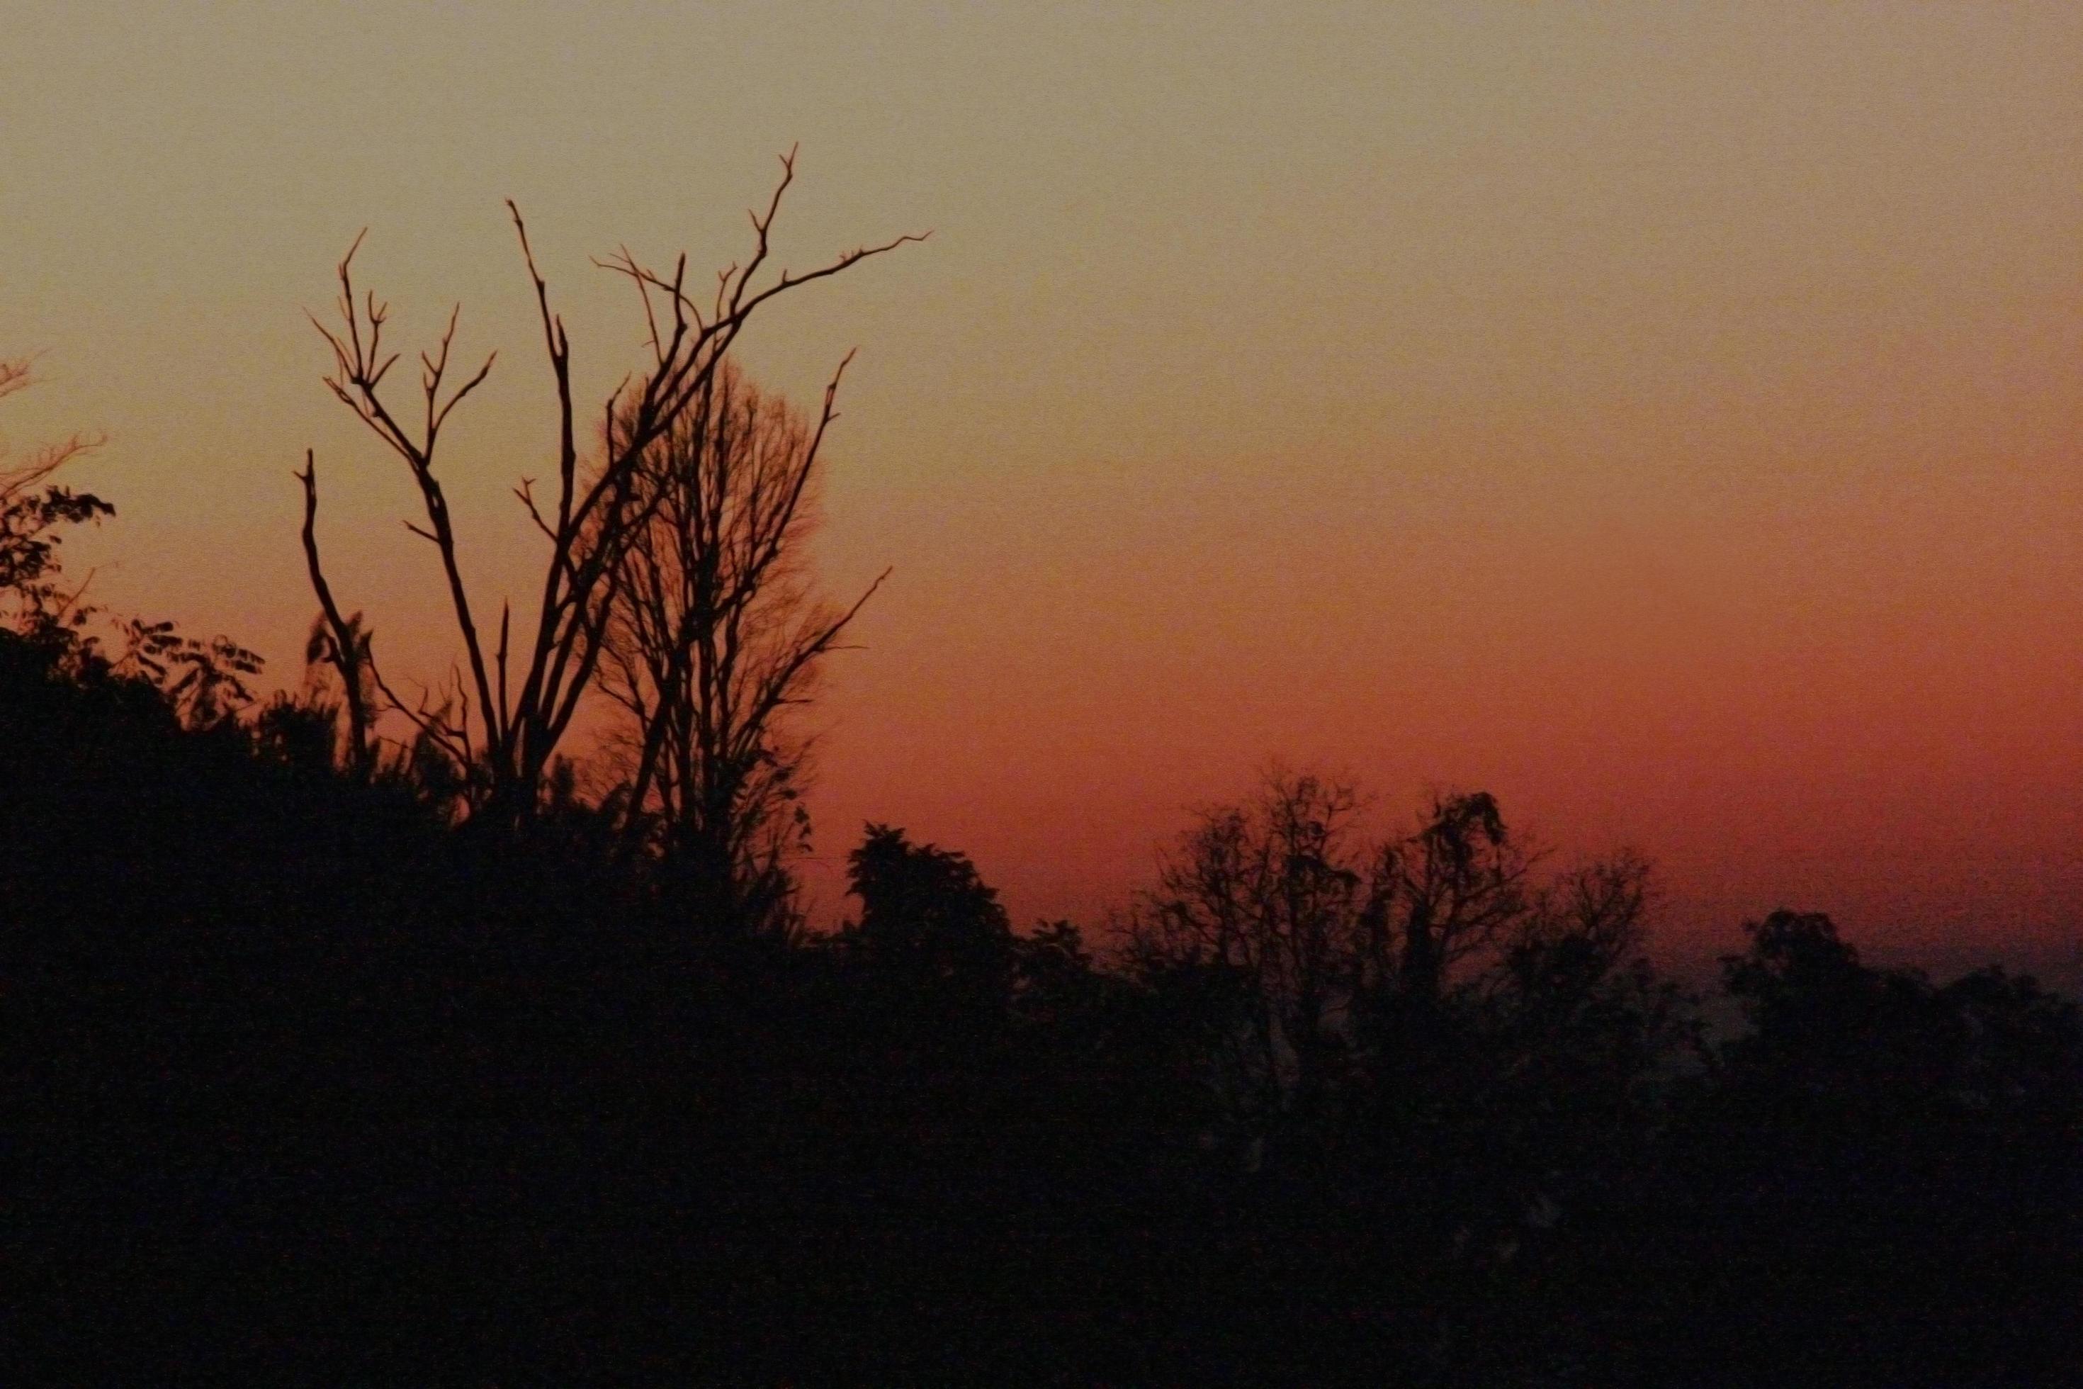
[[[1775,912],[1716,1035],[1648,962],[1646,862],[1552,866],[1485,793],[1371,837],[1283,771],[1104,937],[1017,931],[887,825],[810,929],[787,714],[860,606],[800,562],[837,377],[804,423],[727,348],[873,252],[752,287],[777,204],[710,310],[614,267],[654,367],[592,469],[529,254],[533,646],[471,614],[433,462],[483,373],[444,394],[452,321],[400,427],[342,262],[333,389],[469,652],[437,698],[335,602],[315,460],[321,612],[269,698],[62,581],[110,514],[52,481],[85,441],[0,473],[10,1383],[2075,1381],[2083,1022],[2031,979]]]

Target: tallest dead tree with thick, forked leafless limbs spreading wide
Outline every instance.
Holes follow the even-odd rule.
[[[427,700],[406,704],[383,681],[369,643],[346,641],[337,608],[325,598],[317,539],[306,541],[312,587],[321,589],[325,621],[333,633],[331,650],[350,689],[367,664],[371,683],[385,704],[404,712],[421,731],[421,739],[440,748],[462,777],[473,816],[500,823],[521,823],[535,814],[544,773],[558,741],[577,714],[579,700],[594,683],[594,673],[606,648],[606,629],[614,612],[617,583],[625,575],[631,541],[650,523],[660,502],[639,485],[644,458],[664,439],[696,402],[712,394],[714,375],[737,333],[752,314],[773,298],[814,279],[837,275],[848,267],[923,237],[900,235],[881,246],[862,246],[806,273],[781,271],[762,279],[769,260],[769,233],[781,208],[781,196],[794,181],[794,150],[781,158],[781,179],[764,210],[754,210],[754,252],[742,264],[717,275],[714,294],[700,302],[687,287],[687,258],[679,256],[671,275],[656,273],[635,260],[629,250],[596,262],[625,275],[637,289],[648,327],[650,362],[625,379],[602,406],[602,452],[592,471],[579,466],[579,421],[571,389],[571,342],[562,319],[550,308],[550,292],[529,248],[527,227],[519,208],[512,212],[521,239],[521,258],[535,289],[544,346],[556,381],[558,402],[558,477],[556,502],[546,516],[535,502],[533,483],[517,487],[535,529],[550,541],[544,566],[542,598],[535,610],[535,631],[525,646],[512,648],[512,608],[500,606],[496,646],[479,631],[462,579],[456,531],[448,496],[437,473],[437,444],[444,425],[462,400],[492,371],[492,358],[460,383],[450,383],[450,348],[456,337],[456,314],[431,352],[423,352],[419,400],[412,412],[398,412],[381,394],[383,377],[398,354],[383,350],[387,306],[373,294],[356,298],[348,248],[340,262],[340,327],[312,323],[333,350],[333,371],[327,385],[354,414],[392,450],[412,475],[425,510],[425,525],[406,527],[429,541],[442,560],[448,602],[462,641],[467,677],[444,706]],[[312,535],[317,514],[317,466],[306,454],[300,475],[304,483],[306,535]],[[358,654],[356,654],[358,652]],[[510,662],[517,656],[519,662]],[[354,666],[354,668],[350,668]],[[475,718],[473,718],[475,712]]]

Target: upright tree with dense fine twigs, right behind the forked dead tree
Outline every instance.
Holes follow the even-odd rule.
[[[848,623],[804,562],[817,458],[837,419],[839,371],[817,425],[725,362],[639,458],[600,664],[629,714],[635,764],[623,843],[650,841],[712,923],[785,927],[808,739],[787,727]]]

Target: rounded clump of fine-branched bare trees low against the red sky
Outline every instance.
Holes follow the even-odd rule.
[[[1437,795],[1373,848],[1360,812],[1348,783],[1273,773],[1252,802],[1202,814],[1129,923],[1146,979],[1191,981],[1212,1004],[1212,1083],[1254,1139],[1277,1114],[1316,1112],[1356,1058],[1437,1022],[1456,966],[1477,975],[1535,925],[1539,939],[1573,927],[1560,889],[1527,891],[1533,858],[1487,793]]]

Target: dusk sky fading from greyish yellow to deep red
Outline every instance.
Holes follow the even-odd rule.
[[[2083,6],[21,4],[17,444],[92,427],[96,594],[296,677],[331,579],[446,671],[331,267],[500,348],[446,477],[481,604],[554,456],[517,198],[587,396],[629,244],[696,269],[802,144],[767,314],[829,444],[814,870],[862,818],[1094,920],[1269,756],[1400,818],[1631,843],[1671,950],[1779,904],[2083,977]]]

